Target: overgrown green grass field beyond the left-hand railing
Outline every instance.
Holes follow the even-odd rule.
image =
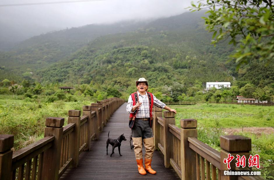
[[[11,95],[0,96],[0,134],[14,135],[14,148],[18,150],[34,141],[44,137],[45,118],[65,118],[68,120],[68,110],[81,110],[83,105],[91,101],[64,102],[62,100],[52,103],[43,99],[23,99]]]

